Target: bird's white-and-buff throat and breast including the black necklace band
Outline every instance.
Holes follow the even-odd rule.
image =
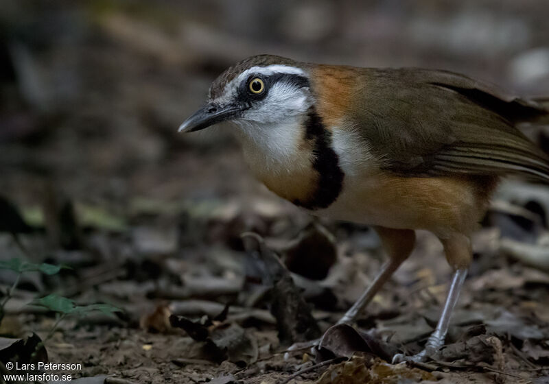
[[[270,191],[311,211],[338,199],[344,172],[332,132],[314,108],[301,121],[262,129],[264,137],[256,132],[241,141],[248,165]]]

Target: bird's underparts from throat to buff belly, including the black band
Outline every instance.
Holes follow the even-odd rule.
[[[423,228],[441,236],[475,228],[484,199],[474,181],[391,175],[379,168],[358,132],[338,126],[320,130],[316,116],[308,119],[309,130],[292,140],[284,135],[285,145],[266,150],[257,141],[243,142],[250,168],[272,192],[332,219]],[[300,130],[294,126],[292,132]],[[283,154],[269,152],[282,149]]]

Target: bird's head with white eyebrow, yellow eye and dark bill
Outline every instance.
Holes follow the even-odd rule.
[[[211,85],[205,106],[179,127],[179,132],[202,130],[222,121],[249,129],[284,125],[299,120],[312,106],[307,64],[279,56],[242,60]]]

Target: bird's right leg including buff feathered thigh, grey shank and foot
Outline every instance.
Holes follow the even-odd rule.
[[[428,358],[434,357],[437,352],[444,345],[446,333],[452,318],[452,312],[458,302],[459,293],[463,287],[465,276],[467,276],[467,267],[471,263],[471,242],[469,238],[460,235],[452,239],[443,239],[444,250],[446,259],[450,265],[454,267],[454,277],[452,278],[452,284],[450,284],[444,309],[441,314],[439,322],[436,324],[434,332],[430,335],[427,343],[425,343],[425,349],[412,357],[406,357],[402,354],[397,354],[393,357],[393,363],[399,363],[407,359],[413,361],[425,361]]]

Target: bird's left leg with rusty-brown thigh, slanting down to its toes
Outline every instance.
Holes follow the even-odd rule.
[[[403,261],[408,259],[415,243],[415,232],[407,229],[393,229],[385,227],[375,227],[375,232],[382,241],[384,250],[387,252],[389,260],[384,263],[382,270],[375,276],[373,283],[362,293],[362,296],[353,304],[353,307],[343,315],[337,324],[350,324],[360,314],[362,309],[371,302],[375,294],[383,287],[386,281],[393,275]],[[301,350],[312,346],[318,346],[322,338],[304,343],[296,343],[288,350]]]

